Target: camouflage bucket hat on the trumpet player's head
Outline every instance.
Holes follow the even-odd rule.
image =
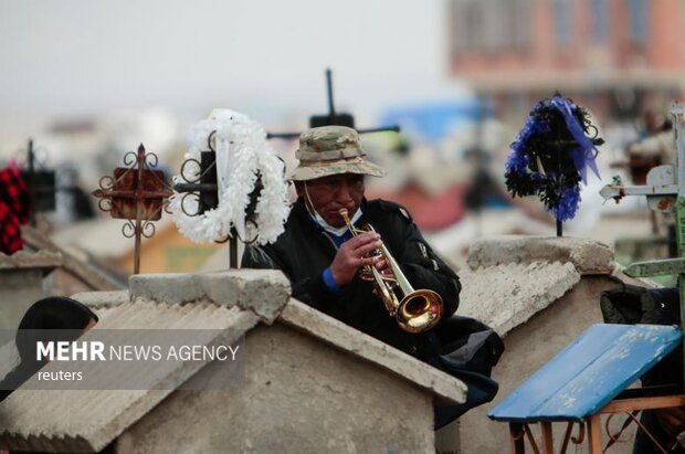
[[[359,135],[347,126],[322,126],[303,133],[295,156],[299,165],[291,176],[294,181],[340,173],[386,176],[382,168],[365,159]]]

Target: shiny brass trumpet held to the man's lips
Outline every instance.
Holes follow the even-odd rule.
[[[346,209],[340,209],[338,212],[352,235],[375,232],[371,225],[366,225],[363,229],[354,226]],[[415,291],[382,241],[371,254],[381,256],[394,276],[383,276],[373,265],[363,265],[359,276],[375,283],[386,308],[390,316],[396,318],[400,328],[412,334],[424,332],[433,328],[442,317],[442,297],[428,288]],[[403,295],[401,299],[396,295],[393,284],[397,284],[399,292]]]

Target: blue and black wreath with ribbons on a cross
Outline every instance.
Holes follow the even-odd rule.
[[[506,186],[513,197],[537,194],[558,221],[572,219],[580,205],[580,181],[587,168],[598,178],[597,146],[604,140],[588,113],[556,94],[537,103],[506,162]]]

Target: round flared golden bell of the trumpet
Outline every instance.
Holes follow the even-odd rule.
[[[400,328],[408,332],[424,332],[433,328],[442,317],[442,298],[428,288],[404,296],[397,312]]]

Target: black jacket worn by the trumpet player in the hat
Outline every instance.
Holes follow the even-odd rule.
[[[371,224],[411,285],[415,289],[438,292],[443,298],[443,319],[451,317],[459,305],[459,277],[433,253],[407,210],[383,200],[365,200],[361,210],[363,215],[357,226]],[[425,336],[400,329],[382,300],[371,293],[372,283],[356,277],[340,295],[326,287],[322,273],[333,262],[336,251],[330,237],[312,221],[301,198],[293,207],[285,232],[273,244],[247,246],[242,266],[283,271],[291,279],[295,298],[400,350],[424,358],[430,349]]]

